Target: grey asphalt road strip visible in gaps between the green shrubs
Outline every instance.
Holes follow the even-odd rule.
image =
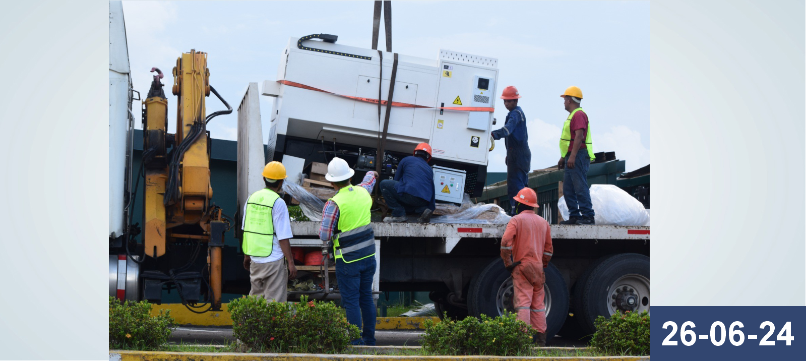
[[[420,346],[418,338],[422,330],[376,330],[377,346]],[[181,326],[173,331],[170,342],[196,343],[202,345],[224,345],[234,342],[231,327]],[[547,346],[584,347],[587,342],[552,338]]]

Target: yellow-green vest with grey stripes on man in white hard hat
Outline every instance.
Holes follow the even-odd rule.
[[[336,259],[352,263],[375,255],[375,232],[370,223],[372,196],[367,189],[350,185],[330,198],[339,206],[339,230],[333,239]]]

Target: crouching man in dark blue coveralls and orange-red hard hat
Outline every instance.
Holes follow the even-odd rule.
[[[413,156],[407,156],[397,164],[395,180],[380,181],[380,193],[392,210],[392,217],[384,218],[384,222],[406,222],[406,214],[411,213],[420,215],[418,222],[430,222],[436,197],[434,171],[428,166],[429,160],[431,146],[419,143]]]

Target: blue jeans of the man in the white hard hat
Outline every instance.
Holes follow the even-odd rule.
[[[375,256],[346,263],[336,259],[336,280],[342,294],[342,307],[347,310],[347,322],[358,326],[361,338],[353,345],[375,346],[375,301],[372,300],[372,277],[375,276]],[[361,327],[362,321],[364,327]]]

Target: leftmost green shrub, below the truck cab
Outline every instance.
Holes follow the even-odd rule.
[[[126,301],[109,297],[109,348],[123,350],[152,350],[160,348],[174,328],[170,310],[160,309],[151,315],[147,301]]]

